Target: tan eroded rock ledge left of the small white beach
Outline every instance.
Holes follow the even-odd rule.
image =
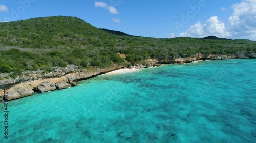
[[[104,74],[113,70],[127,67],[128,64],[115,64],[110,68],[95,69],[88,71],[78,69],[77,66],[70,65],[66,68],[55,67],[54,72],[42,74],[41,72],[26,72],[23,76],[15,79],[0,81],[0,101],[3,100],[4,89],[8,89],[8,100],[18,99],[32,95],[34,92],[48,92],[65,89],[75,86],[77,81],[88,79],[99,74]]]

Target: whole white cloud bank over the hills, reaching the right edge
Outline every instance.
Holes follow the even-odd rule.
[[[244,0],[232,5],[233,13],[226,24],[217,16],[210,17],[203,24],[197,22],[180,36],[205,37],[209,35],[221,38],[245,38],[256,40],[256,0]]]

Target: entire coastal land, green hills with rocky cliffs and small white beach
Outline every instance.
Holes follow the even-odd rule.
[[[101,74],[198,60],[256,58],[256,41],[139,37],[101,30],[77,17],[52,16],[0,23],[0,57],[1,101],[4,89],[13,100],[65,89]]]

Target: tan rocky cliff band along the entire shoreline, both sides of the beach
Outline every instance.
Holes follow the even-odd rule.
[[[256,54],[252,57],[240,57],[236,55],[213,55],[204,56],[198,54],[189,58],[167,56],[163,61],[157,59],[149,59],[137,64],[135,68],[148,68],[153,66],[160,66],[160,64],[184,64],[197,60],[222,60],[222,59],[248,59],[256,58]],[[3,100],[4,89],[8,89],[8,100],[18,99],[30,96],[35,92],[43,93],[53,90],[65,89],[75,86],[77,81],[85,80],[95,77],[100,74],[105,74],[121,68],[133,68],[129,63],[122,65],[115,64],[109,68],[97,68],[94,70],[79,69],[78,66],[69,65],[66,68],[54,67],[53,72],[43,73],[42,71],[24,72],[23,76],[15,79],[0,80],[0,101]],[[9,73],[10,74],[10,73]],[[6,76],[8,73],[1,74]]]

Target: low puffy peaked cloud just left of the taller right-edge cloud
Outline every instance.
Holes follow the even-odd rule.
[[[230,37],[230,32],[228,32],[225,24],[218,20],[217,16],[212,16],[204,24],[197,22],[196,24],[190,26],[190,28],[180,36],[187,37],[205,37],[209,35],[214,35],[221,38]]]

